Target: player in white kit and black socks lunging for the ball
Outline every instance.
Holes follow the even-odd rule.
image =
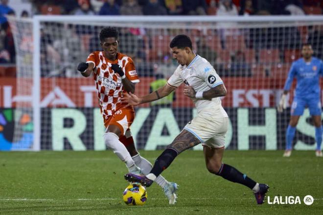
[[[167,84],[148,95],[138,98],[129,93],[121,100],[128,106],[152,102],[169,95],[184,82],[184,94],[195,103],[197,115],[161,153],[149,174],[138,175],[130,172],[125,174],[125,179],[149,187],[182,151],[202,143],[208,171],[249,187],[254,192],[257,203],[262,204],[269,186],[258,184],[246,174],[222,163],[228,130],[228,115],[220,100],[221,96],[227,94],[223,81],[206,59],[192,51],[192,42],[186,35],[176,36],[171,41],[170,48],[173,58],[180,65]]]

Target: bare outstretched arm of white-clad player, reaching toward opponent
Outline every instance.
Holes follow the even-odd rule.
[[[137,106],[143,103],[148,103],[152,101],[159,100],[167,95],[169,95],[171,92],[175,90],[174,87],[165,85],[162,86],[161,88],[157,89],[156,91],[147,94],[142,97],[137,97],[135,94],[129,92],[129,94],[124,94],[123,97],[121,98],[122,103],[127,104],[126,107],[128,106]]]

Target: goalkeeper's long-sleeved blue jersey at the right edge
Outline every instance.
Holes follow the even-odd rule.
[[[323,63],[320,59],[312,57],[311,62],[305,62],[303,58],[294,61],[285,82],[284,90],[289,90],[293,79],[296,77],[296,97],[320,96],[320,77],[323,76]]]

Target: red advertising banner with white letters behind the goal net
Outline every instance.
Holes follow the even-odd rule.
[[[142,77],[136,85],[138,96],[149,93],[153,77]],[[228,94],[223,98],[224,107],[275,107],[284,85],[282,79],[275,78],[223,78]],[[17,93],[19,85],[19,93]],[[18,102],[31,106],[31,80],[15,78],[0,79],[0,108],[14,108]],[[295,87],[295,83],[294,86]],[[183,94],[184,85],[175,91],[174,108],[193,107],[190,99]],[[290,96],[290,99],[292,97]],[[291,100],[290,100],[291,102]],[[147,107],[148,104],[140,107]],[[92,78],[42,78],[41,107],[98,107],[97,94]]]

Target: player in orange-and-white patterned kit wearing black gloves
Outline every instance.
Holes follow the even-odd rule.
[[[139,82],[136,67],[132,59],[118,50],[118,31],[113,27],[103,28],[100,32],[100,44],[103,51],[94,51],[86,63],[78,65],[77,70],[84,77],[93,73],[101,114],[106,131],[103,139],[108,148],[125,162],[129,172],[147,174],[152,164],[141,157],[136,150],[130,126],[135,118],[132,106],[121,103],[121,94],[135,92]],[[170,204],[176,202],[177,185],[166,181],[162,176],[157,183],[164,190]],[[176,188],[176,189],[174,189]]]

